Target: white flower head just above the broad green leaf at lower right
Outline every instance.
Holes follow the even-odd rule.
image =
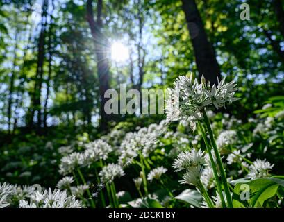
[[[253,164],[249,166],[248,178],[267,178],[272,167],[274,167],[274,164],[270,164],[267,160],[253,161]]]

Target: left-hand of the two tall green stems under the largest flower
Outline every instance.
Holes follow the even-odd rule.
[[[220,196],[220,199],[221,199],[221,202],[222,202],[222,207],[226,208],[226,202],[225,202],[225,199],[224,199],[224,196],[223,196],[223,192],[222,192],[222,185],[221,185],[221,182],[219,180],[219,176],[218,176],[218,173],[217,173],[217,168],[216,168],[216,165],[215,165],[215,161],[214,161],[214,159],[212,157],[211,147],[210,147],[210,145],[208,143],[206,134],[205,134],[205,132],[203,130],[203,126],[201,125],[201,122],[199,120],[197,120],[197,124],[199,126],[199,129],[201,130],[203,141],[204,141],[204,143],[206,145],[207,153],[208,153],[208,155],[210,157],[210,162],[211,162],[211,166],[212,166],[212,169],[213,169],[213,174],[214,174],[216,185],[217,185],[217,191],[219,193],[219,196]]]

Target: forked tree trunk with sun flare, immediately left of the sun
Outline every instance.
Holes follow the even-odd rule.
[[[94,39],[95,53],[97,56],[97,73],[99,76],[99,94],[100,94],[100,114],[101,114],[101,129],[107,128],[107,123],[111,119],[111,116],[106,114],[104,110],[104,105],[107,98],[104,97],[106,90],[110,89],[110,74],[108,58],[106,57],[108,49],[108,40],[101,32],[102,22],[101,22],[101,10],[103,8],[103,1],[97,0],[97,21],[94,21],[94,13],[92,10],[92,0],[87,0],[87,22],[89,23],[92,37]]]

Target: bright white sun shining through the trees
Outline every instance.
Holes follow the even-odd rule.
[[[113,42],[110,47],[111,59],[115,62],[126,62],[129,58],[129,51],[127,46],[121,42]]]

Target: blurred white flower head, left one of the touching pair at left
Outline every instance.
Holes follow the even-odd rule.
[[[71,173],[76,167],[83,165],[83,160],[83,154],[77,152],[62,157],[59,165],[59,173],[63,175]]]

